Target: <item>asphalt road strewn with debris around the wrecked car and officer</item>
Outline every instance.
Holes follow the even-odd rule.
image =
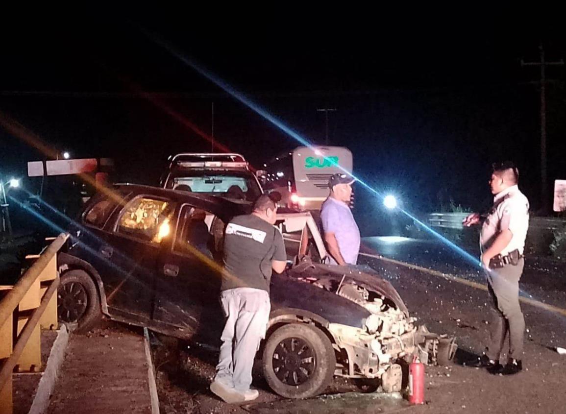
[[[556,351],[556,347],[566,347],[566,316],[544,308],[544,304],[566,307],[563,262],[527,258],[521,287],[537,305],[522,304],[527,329],[524,370],[516,376],[501,377],[464,365],[482,352],[488,338],[487,292],[482,288],[481,270],[472,261],[435,241],[367,238],[364,244],[366,253],[360,256],[360,264],[370,265],[391,282],[411,314],[431,331],[457,337],[459,350],[452,365],[426,367],[423,406],[407,407],[403,400],[368,400],[355,393],[357,388],[351,381],[338,378],[327,390],[334,394],[331,398],[290,402],[274,395],[259,374],[254,378],[259,399],[246,407],[232,406],[208,391],[217,353],[195,344],[189,348],[175,344],[155,347],[161,412],[566,412],[566,393],[561,391],[566,382],[566,356]],[[410,264],[422,269],[411,269]]]

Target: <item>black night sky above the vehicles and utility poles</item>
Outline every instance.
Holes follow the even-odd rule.
[[[500,159],[518,163],[533,210],[541,205],[539,69],[520,62],[538,59],[541,40],[547,60],[564,58],[560,25],[508,10],[478,10],[477,18],[448,10],[430,18],[217,12],[14,19],[1,29],[0,115],[54,150],[114,158],[128,182],[156,184],[169,154],[209,150],[188,125],[210,133],[212,102],[216,139],[254,165],[298,145],[158,38],[314,143],[324,143],[325,131],[316,109],[336,108],[330,143],[348,146],[355,173],[398,193],[411,211],[451,199],[485,208],[489,168]],[[547,77],[552,183],[566,178],[564,66]],[[5,122],[0,174],[23,176],[27,161],[44,156]],[[362,193],[358,205],[379,214]]]

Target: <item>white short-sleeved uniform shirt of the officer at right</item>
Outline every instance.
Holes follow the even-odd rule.
[[[494,205],[483,222],[479,235],[482,253],[491,246],[501,231],[509,229],[513,237],[501,251],[501,256],[507,256],[515,249],[522,255],[528,228],[529,200],[519,191],[518,186],[504,189],[494,197]]]

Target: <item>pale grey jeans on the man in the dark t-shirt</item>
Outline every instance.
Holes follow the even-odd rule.
[[[226,325],[222,331],[220,357],[215,381],[237,391],[247,391],[251,384],[254,357],[269,321],[269,294],[260,289],[238,287],[220,295]]]

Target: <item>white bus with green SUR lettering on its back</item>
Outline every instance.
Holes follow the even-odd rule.
[[[337,164],[337,165],[336,165]],[[328,197],[328,179],[352,172],[352,154],[344,146],[299,146],[265,163],[264,189],[281,193],[281,204],[301,210],[320,210]]]

